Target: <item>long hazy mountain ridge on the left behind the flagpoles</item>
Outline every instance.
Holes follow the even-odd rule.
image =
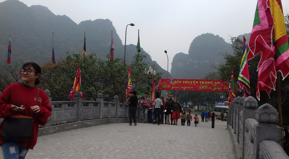
[[[124,45],[109,19],[85,20],[76,24],[66,15],[55,15],[47,7],[32,5],[27,7],[18,0],[0,3],[0,65],[6,63],[9,33],[11,34],[12,64],[20,61],[35,61],[39,64],[51,61],[52,31],[56,60],[68,54],[81,53],[86,42],[86,53],[95,53],[106,59],[110,50],[111,30],[113,30],[114,57],[123,58]],[[146,54],[143,49],[141,52]],[[136,45],[126,46],[126,61],[136,53]],[[147,55],[146,62],[155,64],[157,70],[166,72]]]

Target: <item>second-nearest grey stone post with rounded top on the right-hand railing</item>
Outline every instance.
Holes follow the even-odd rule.
[[[244,159],[245,156],[245,120],[247,118],[255,118],[255,110],[258,106],[258,102],[252,96],[247,97],[243,102],[243,119],[242,119],[242,127],[240,127],[241,131],[241,138],[240,138],[240,145],[242,149],[242,158]]]

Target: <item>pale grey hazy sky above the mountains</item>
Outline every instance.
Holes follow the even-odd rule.
[[[3,2],[4,0],[0,0]],[[137,43],[152,59],[169,71],[174,55],[188,54],[192,40],[203,33],[213,33],[226,41],[230,36],[252,30],[257,0],[20,0],[27,6],[43,5],[54,14],[67,15],[74,22],[110,19],[120,39],[126,44]],[[284,13],[289,0],[282,0]],[[210,45],[210,44],[208,44]]]

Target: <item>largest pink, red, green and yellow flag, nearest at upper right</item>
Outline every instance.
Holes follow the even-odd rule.
[[[261,90],[269,96],[275,90],[277,73],[283,80],[289,74],[289,45],[281,0],[258,0],[247,60],[260,55],[257,98]]]

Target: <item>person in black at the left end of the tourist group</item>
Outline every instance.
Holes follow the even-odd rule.
[[[136,91],[132,91],[129,93],[129,125],[132,125],[132,119],[133,122],[135,123],[135,126],[137,125],[136,123],[136,118],[135,118],[135,114],[136,114],[136,107],[138,106],[138,97],[136,96],[138,93]]]

